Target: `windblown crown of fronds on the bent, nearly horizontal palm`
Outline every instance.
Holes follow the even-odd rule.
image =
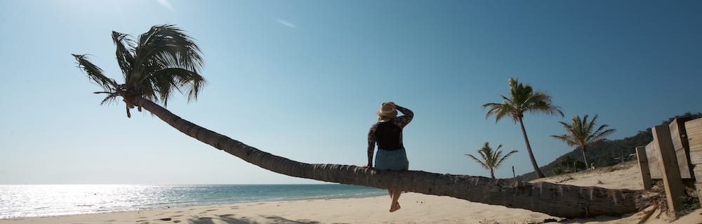
[[[112,32],[112,41],[117,46],[117,64],[124,77],[118,84],[103,74],[100,67],[88,60],[87,55],[73,54],[78,67],[86,72],[93,83],[102,87],[107,97],[102,104],[124,98],[127,117],[133,108],[132,98],[142,97],[161,102],[166,106],[173,90],[187,91],[188,100],[197,99],[204,77],[199,74],[202,67],[200,49],[183,30],[173,25],[154,26],[134,41],[128,34]]]

